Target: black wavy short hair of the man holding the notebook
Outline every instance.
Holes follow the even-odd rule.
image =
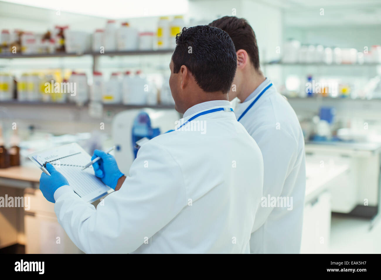
[[[228,93],[237,69],[232,39],[225,31],[207,25],[184,27],[176,35],[172,60],[174,73],[185,65],[206,92]]]

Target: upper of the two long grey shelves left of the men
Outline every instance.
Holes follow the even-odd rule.
[[[0,58],[59,58],[59,57],[75,57],[90,55],[94,57],[98,56],[127,56],[127,55],[153,55],[153,54],[171,54],[173,49],[166,50],[136,50],[136,51],[114,51],[110,53],[43,53],[43,54],[22,54],[22,53],[4,53],[0,54]]]

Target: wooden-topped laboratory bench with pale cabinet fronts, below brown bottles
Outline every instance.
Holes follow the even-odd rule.
[[[26,253],[81,253],[38,189],[41,173],[33,163],[0,169],[0,197],[24,197],[24,205],[0,208],[0,248],[19,244]]]

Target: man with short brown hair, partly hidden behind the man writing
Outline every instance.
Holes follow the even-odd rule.
[[[251,253],[299,253],[303,223],[306,163],[304,137],[290,104],[259,67],[255,32],[246,19],[224,16],[209,24],[226,31],[237,54],[229,100],[261,149],[263,197],[250,238]]]

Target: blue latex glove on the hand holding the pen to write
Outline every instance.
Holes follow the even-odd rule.
[[[91,157],[91,160],[96,157],[100,157],[101,159],[93,163],[95,176],[101,178],[102,182],[115,190],[118,179],[124,175],[120,172],[117,161],[112,155],[106,154],[101,150],[94,150],[94,155]]]

